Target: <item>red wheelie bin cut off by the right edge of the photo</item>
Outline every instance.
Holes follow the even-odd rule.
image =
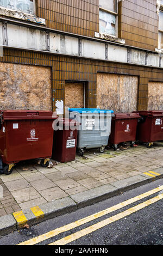
[[[163,140],[163,110],[136,111],[134,113],[141,115],[137,125],[137,141],[145,142],[147,148],[152,148],[154,141]]]

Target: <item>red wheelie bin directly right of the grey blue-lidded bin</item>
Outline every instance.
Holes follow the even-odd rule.
[[[108,141],[108,144],[112,144],[114,150],[118,149],[118,144],[121,142],[130,142],[130,147],[134,147],[139,118],[140,115],[136,113],[114,113]]]

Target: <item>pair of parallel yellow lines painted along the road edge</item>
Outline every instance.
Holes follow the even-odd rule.
[[[118,209],[121,209],[123,208],[124,206],[127,206],[129,204],[132,204],[134,202],[137,202],[138,200],[141,200],[145,197],[148,197],[148,196],[151,196],[152,194],[156,193],[156,192],[160,192],[163,190],[163,186],[160,186],[160,187],[157,187],[157,188],[154,188],[153,190],[150,190],[146,193],[143,193],[143,194],[140,194],[139,196],[136,196],[134,198],[131,198],[131,199],[128,199],[120,204],[117,204],[115,206],[112,206],[108,209],[105,209],[103,211],[99,211],[97,212],[96,214],[93,214],[93,215],[90,215],[90,216],[87,216],[85,218],[82,218],[81,220],[78,220],[78,221],[75,221],[75,222],[72,222],[70,224],[67,224],[67,225],[64,225],[63,227],[60,227],[60,228],[57,228],[57,229],[54,229],[52,231],[49,231],[43,235],[40,235],[40,236],[37,236],[37,237],[34,237],[33,239],[29,239],[28,241],[25,241],[25,242],[22,242],[22,243],[19,243],[18,245],[35,245],[36,243],[39,243],[39,242],[42,242],[42,241],[45,241],[47,239],[50,239],[54,236],[57,236],[58,234],[60,233],[63,233],[65,231],[68,231],[68,230],[71,230],[73,228],[77,228],[79,227],[80,225],[83,225],[87,222],[90,222],[90,221],[93,221],[93,220],[96,220],[97,218],[99,217],[102,217],[106,214],[109,214],[110,212],[113,212],[113,211],[116,211]],[[120,220],[121,218],[124,218],[125,216],[128,216],[130,214],[133,214],[133,212],[136,212],[140,209],[143,209],[145,208],[146,206],[150,205],[150,204],[153,204],[155,202],[158,202],[159,200],[163,199],[163,193],[159,194],[158,196],[152,198],[152,199],[149,199],[141,204],[138,204],[136,206],[134,206],[133,208],[130,208],[126,211],[123,211],[121,212],[120,214],[117,214],[117,215],[114,215],[110,218],[107,218],[106,220],[104,221],[101,221],[101,222],[98,222],[96,224],[93,224],[85,229],[82,229],[72,235],[69,235],[69,236],[66,236],[60,240],[57,240],[53,243],[49,243],[49,245],[66,245],[67,243],[70,243],[74,240],[77,240],[79,239],[80,237],[82,236],[85,236],[87,234],[90,234],[92,233],[93,231],[96,231],[102,227],[104,227],[105,225],[108,225],[112,222],[115,222],[115,221],[118,221]]]

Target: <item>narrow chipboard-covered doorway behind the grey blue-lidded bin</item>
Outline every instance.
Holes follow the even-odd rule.
[[[70,108],[85,107],[85,83],[65,82],[65,106]]]

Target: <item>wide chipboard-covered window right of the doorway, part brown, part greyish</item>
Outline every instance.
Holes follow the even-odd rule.
[[[138,77],[97,74],[97,106],[115,112],[137,110]]]

